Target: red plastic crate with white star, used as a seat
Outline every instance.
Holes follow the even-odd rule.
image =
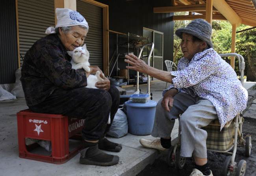
[[[30,110],[17,113],[19,156],[20,158],[34,159],[48,163],[62,164],[78,154],[82,148],[81,132],[84,119],[70,119],[60,114],[41,114]],[[32,153],[38,145],[26,145],[25,139],[42,139],[51,141],[51,154]],[[78,139],[81,142],[72,151],[69,149],[69,139]]]

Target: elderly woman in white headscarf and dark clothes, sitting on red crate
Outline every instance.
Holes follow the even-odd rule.
[[[120,144],[105,138],[119,107],[119,91],[110,86],[96,66],[89,66],[89,72],[72,69],[67,51],[82,46],[89,26],[77,11],[57,8],[56,16],[56,27],[48,27],[48,35],[35,42],[24,57],[20,80],[26,103],[33,112],[85,119],[80,163],[115,165],[119,157],[99,149],[122,149]],[[102,80],[95,84],[96,88],[86,88],[87,77],[97,71]]]

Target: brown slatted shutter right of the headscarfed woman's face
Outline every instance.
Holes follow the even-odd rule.
[[[90,52],[89,62],[103,69],[103,34],[102,34],[102,8],[80,0],[76,1],[76,10],[83,15],[89,24],[89,32],[85,39]]]

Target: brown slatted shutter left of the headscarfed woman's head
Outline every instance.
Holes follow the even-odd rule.
[[[22,57],[40,38],[45,29],[55,26],[54,0],[18,0],[19,40]]]

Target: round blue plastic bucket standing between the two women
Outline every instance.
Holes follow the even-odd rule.
[[[152,132],[156,114],[156,101],[149,100],[147,103],[132,103],[126,101],[128,119],[128,132],[143,136]]]

